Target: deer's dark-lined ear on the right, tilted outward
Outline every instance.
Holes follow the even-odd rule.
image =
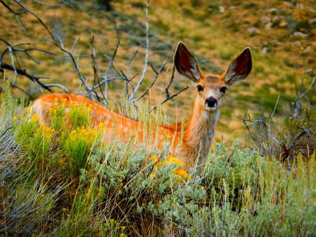
[[[251,51],[247,47],[243,52],[235,58],[224,73],[225,81],[228,85],[244,80],[250,73],[252,68]]]

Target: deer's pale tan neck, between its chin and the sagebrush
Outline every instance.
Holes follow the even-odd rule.
[[[209,112],[203,109],[204,105],[196,98],[193,114],[186,123],[186,159],[191,165],[194,164],[198,154],[198,168],[201,168],[208,155],[210,145],[215,133],[216,123],[219,117],[219,110]]]

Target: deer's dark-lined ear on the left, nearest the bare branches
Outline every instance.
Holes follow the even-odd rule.
[[[182,42],[178,43],[174,57],[174,64],[178,73],[192,82],[196,82],[202,75],[192,53]]]

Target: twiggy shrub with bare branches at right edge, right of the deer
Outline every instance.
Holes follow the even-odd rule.
[[[292,102],[294,112],[284,118],[283,124],[276,125],[273,121],[276,108],[279,103],[280,96],[276,102],[274,110],[269,115],[269,120],[252,120],[248,111],[243,116],[236,116],[243,121],[248,135],[258,148],[261,156],[275,156],[280,162],[287,162],[289,168],[293,168],[292,164],[298,153],[304,157],[310,155],[316,150],[316,130],[314,124],[316,122],[316,109],[307,100],[311,109],[305,109],[302,112],[302,98],[311,90],[314,85],[313,77],[309,87],[304,90],[305,72],[301,77],[300,88],[295,83],[296,98]],[[251,127],[256,127],[257,132],[252,132]]]

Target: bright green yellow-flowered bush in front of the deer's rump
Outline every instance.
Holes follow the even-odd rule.
[[[32,113],[31,107],[27,107],[20,117],[13,117],[13,126],[17,131],[16,140],[23,146],[29,159],[43,170],[54,170],[66,162],[63,170],[69,177],[75,178],[79,176],[80,168],[85,167],[87,156],[93,144],[97,144],[100,131],[89,126],[91,107],[86,104],[71,106],[67,117],[65,109],[65,102],[50,109],[50,127],[47,127],[43,123],[38,126],[40,117]]]

